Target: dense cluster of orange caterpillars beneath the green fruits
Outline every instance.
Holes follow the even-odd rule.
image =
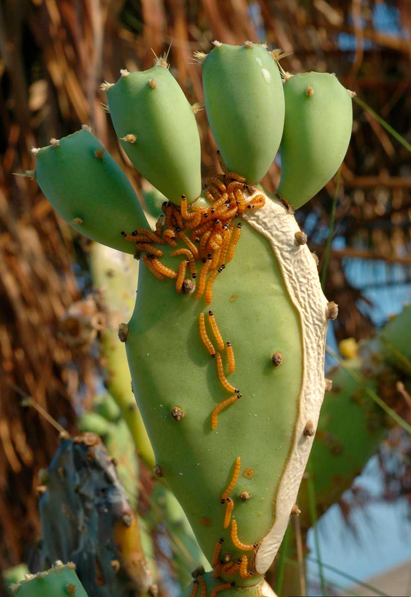
[[[143,263],[156,278],[175,279],[178,293],[181,290],[193,292],[193,282],[186,279],[187,268],[191,278],[195,280],[198,273],[197,262],[201,261],[196,298],[205,294],[206,304],[211,303],[215,278],[233,259],[240,238],[241,223],[234,226],[233,220],[242,216],[246,210],[255,210],[265,203],[263,195],[254,195],[246,200],[245,190],[253,195],[256,187],[247,186],[242,176],[228,172],[223,163],[222,166],[225,174],[213,176],[205,184],[205,197],[211,203],[209,207],[194,206],[190,210],[186,196],[182,195],[180,209],[169,201],[163,202],[163,215],[157,220],[155,231],[139,228],[131,234],[122,232],[127,241],[135,242],[135,256],[140,257],[140,253],[143,253]],[[190,236],[187,235],[187,230],[191,230]],[[179,239],[184,242],[185,247],[178,248]],[[175,248],[170,253],[171,257],[185,257],[177,270],[166,267],[160,261],[164,253],[154,246],[156,244],[168,244]]]

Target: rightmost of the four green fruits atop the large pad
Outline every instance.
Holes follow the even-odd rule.
[[[278,192],[296,209],[310,201],[342,164],[353,126],[352,96],[335,75],[316,72],[286,79],[284,95]]]

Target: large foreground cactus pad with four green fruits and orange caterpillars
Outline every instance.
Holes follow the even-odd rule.
[[[135,309],[120,339],[153,445],[154,475],[177,496],[212,566],[183,594],[257,597],[266,594],[264,573],[289,516],[299,511],[296,495],[326,387],[327,321],[338,311],[323,296],[289,204],[308,201],[341,164],[351,106],[334,76],[311,73],[300,84],[296,75],[293,84],[265,45],[214,45],[208,56],[194,56],[203,66],[223,174],[205,180],[201,195],[193,112],[165,58],[102,85],[123,147],[168,199],[155,230],[89,131],[33,152],[36,178],[59,213],[140,259]],[[290,93],[280,72],[291,77]],[[301,202],[292,195],[293,177],[310,173],[288,117],[299,110],[298,94],[312,102],[296,121],[308,152],[321,152],[330,118],[339,133],[333,155],[305,156],[316,169]],[[322,122],[322,102],[329,101],[341,104],[344,118],[326,112]],[[284,112],[285,191],[269,198],[258,183],[279,148]],[[83,165],[72,192],[74,164]]]

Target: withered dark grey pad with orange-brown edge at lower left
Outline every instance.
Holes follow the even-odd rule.
[[[45,565],[56,556],[72,559],[94,597],[154,595],[137,516],[101,439],[94,433],[63,439],[42,482]]]

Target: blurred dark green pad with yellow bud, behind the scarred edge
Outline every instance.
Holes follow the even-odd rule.
[[[332,390],[323,402],[308,460],[307,470],[313,475],[319,515],[351,487],[387,433],[384,411],[366,392],[367,388],[377,389],[376,381],[359,381],[363,375],[359,359],[345,361],[344,366],[347,369],[341,367],[330,376]],[[305,481],[299,490],[298,506],[301,525],[309,528],[311,516]]]

